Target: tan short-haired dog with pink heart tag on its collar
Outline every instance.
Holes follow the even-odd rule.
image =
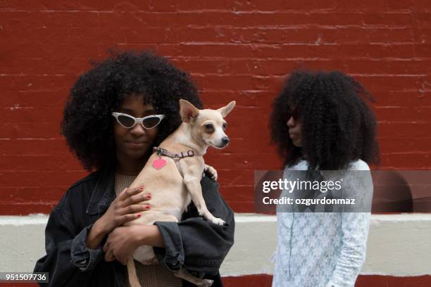
[[[223,219],[214,217],[206,208],[200,181],[204,170],[209,170],[213,178],[217,178],[213,167],[205,165],[203,155],[209,146],[224,148],[229,144],[223,117],[234,107],[235,101],[232,101],[218,110],[199,110],[192,103],[180,100],[182,124],[159,146],[168,151],[168,155],[160,154],[161,150],[153,153],[130,185],[130,188],[145,186],[145,190],[151,193],[151,200],[146,202],[151,205],[151,209],[144,211],[141,218],[126,222],[125,226],[151,225],[156,221],[178,222],[190,200],[196,205],[199,215],[213,224],[225,224]],[[187,151],[193,151],[194,155],[190,156],[191,152]],[[175,153],[177,155],[170,157]],[[185,157],[179,158],[178,155]],[[133,258],[142,264],[151,264],[156,260],[153,248],[149,245],[139,246]],[[127,272],[130,286],[140,287],[132,258],[127,260]],[[211,286],[213,283],[212,280],[198,279],[185,269],[174,275],[196,286]]]

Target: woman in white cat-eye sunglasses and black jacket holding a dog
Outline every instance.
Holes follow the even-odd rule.
[[[235,222],[211,177],[202,178],[202,192],[225,226],[202,220],[191,203],[180,222],[122,227],[151,208],[137,204],[151,191],[127,187],[153,147],[180,126],[180,98],[202,108],[189,75],[148,52],[111,51],[77,79],[61,131],[91,173],[70,186],[49,215],[46,255],[35,266],[35,272],[49,272],[41,286],[128,286],[125,262],[139,245],[154,246],[158,259],[135,261],[142,286],[194,286],[173,275],[181,268],[223,286],[218,269],[233,244]],[[144,198],[137,196],[141,191]]]

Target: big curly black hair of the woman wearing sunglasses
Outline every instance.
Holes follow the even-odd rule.
[[[166,115],[158,126],[158,145],[181,124],[179,100],[202,108],[190,75],[149,51],[113,51],[75,82],[63,111],[61,134],[88,171],[115,162],[113,117],[125,96],[140,94]]]

